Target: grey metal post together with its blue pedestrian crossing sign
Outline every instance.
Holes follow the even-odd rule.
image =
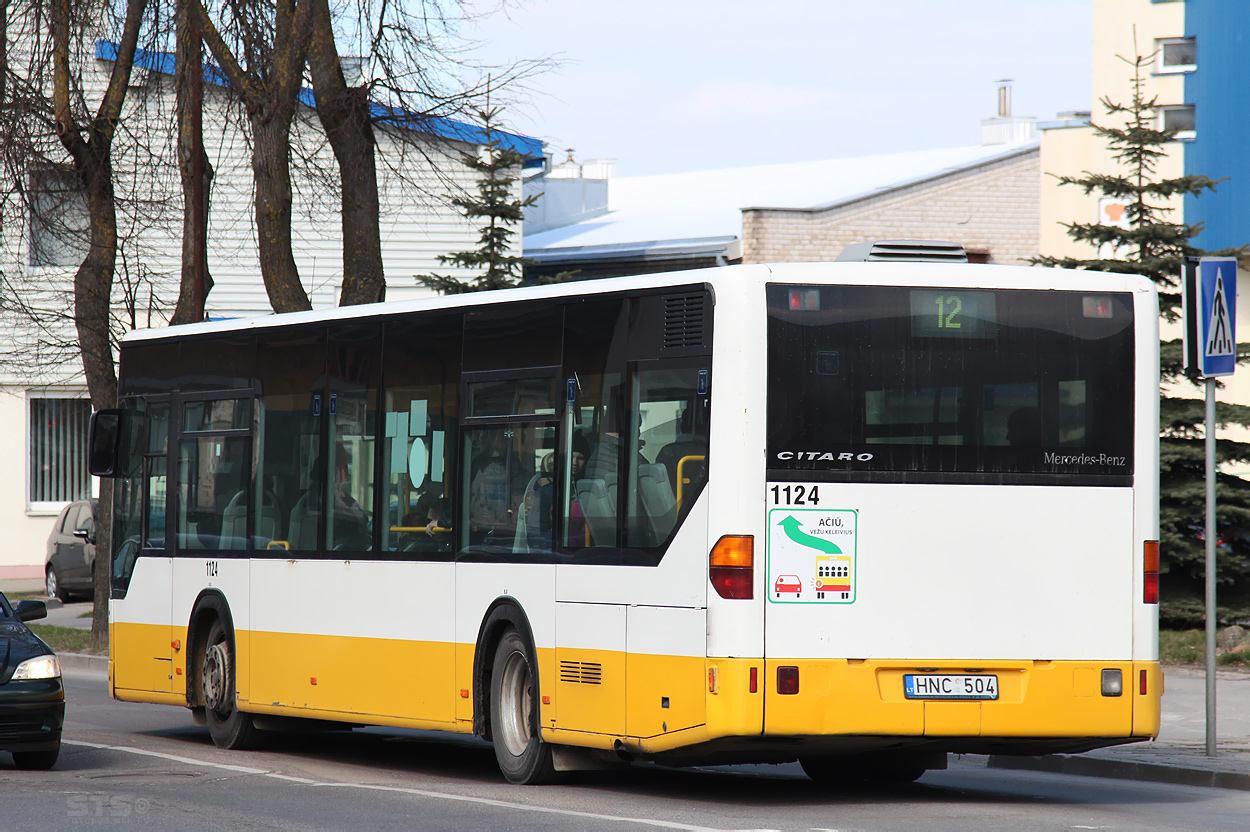
[[[1238,364],[1235,257],[1186,257],[1181,276],[1185,370],[1206,385],[1206,756],[1215,756],[1215,380]]]

